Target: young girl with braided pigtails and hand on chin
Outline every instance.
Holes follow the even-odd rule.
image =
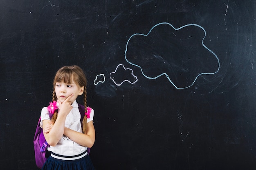
[[[64,66],[57,71],[53,102],[41,112],[40,126],[51,151],[42,170],[94,170],[87,152],[95,141],[94,110],[86,106],[86,84],[79,66]],[[76,102],[79,95],[83,95],[85,106],[82,126]]]

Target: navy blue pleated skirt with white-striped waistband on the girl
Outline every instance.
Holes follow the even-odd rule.
[[[63,157],[63,159],[61,157],[61,155],[56,156],[52,153],[45,161],[42,170],[94,170],[88,154],[79,159],[68,157],[68,160],[64,160],[66,157]]]

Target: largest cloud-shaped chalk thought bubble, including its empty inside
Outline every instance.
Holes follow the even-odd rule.
[[[148,79],[166,76],[175,88],[189,88],[200,75],[216,74],[220,69],[217,55],[204,45],[205,37],[205,29],[198,24],[176,29],[162,22],[147,34],[129,38],[125,60]]]

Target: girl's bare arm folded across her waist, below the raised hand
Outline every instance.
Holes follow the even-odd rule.
[[[64,129],[64,135],[81,146],[91,148],[95,141],[95,129],[92,121],[87,123],[85,133],[77,132],[69,128]]]

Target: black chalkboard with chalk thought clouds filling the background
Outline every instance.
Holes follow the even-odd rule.
[[[95,169],[254,170],[255,16],[255,0],[1,0],[1,169],[37,169],[54,73],[79,65]]]

